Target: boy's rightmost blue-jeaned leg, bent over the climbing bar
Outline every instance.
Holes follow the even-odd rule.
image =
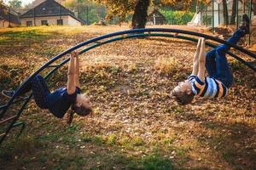
[[[236,44],[239,42],[241,37],[244,36],[244,33],[238,29],[232,37],[230,37],[227,42]],[[230,49],[229,46],[222,44],[216,48],[216,76],[218,80],[224,83],[225,86],[230,87],[233,83],[233,75],[232,72],[230,71],[230,65],[228,63],[228,60],[225,56],[225,54],[228,52]]]

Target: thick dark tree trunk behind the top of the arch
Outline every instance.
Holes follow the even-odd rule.
[[[148,16],[148,6],[150,0],[137,0],[135,11],[132,16],[131,28],[145,28]]]

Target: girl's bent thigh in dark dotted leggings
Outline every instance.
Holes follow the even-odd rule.
[[[47,109],[46,97],[49,94],[49,89],[44,77],[37,76],[32,80],[32,94],[34,96],[36,104],[41,109]]]

